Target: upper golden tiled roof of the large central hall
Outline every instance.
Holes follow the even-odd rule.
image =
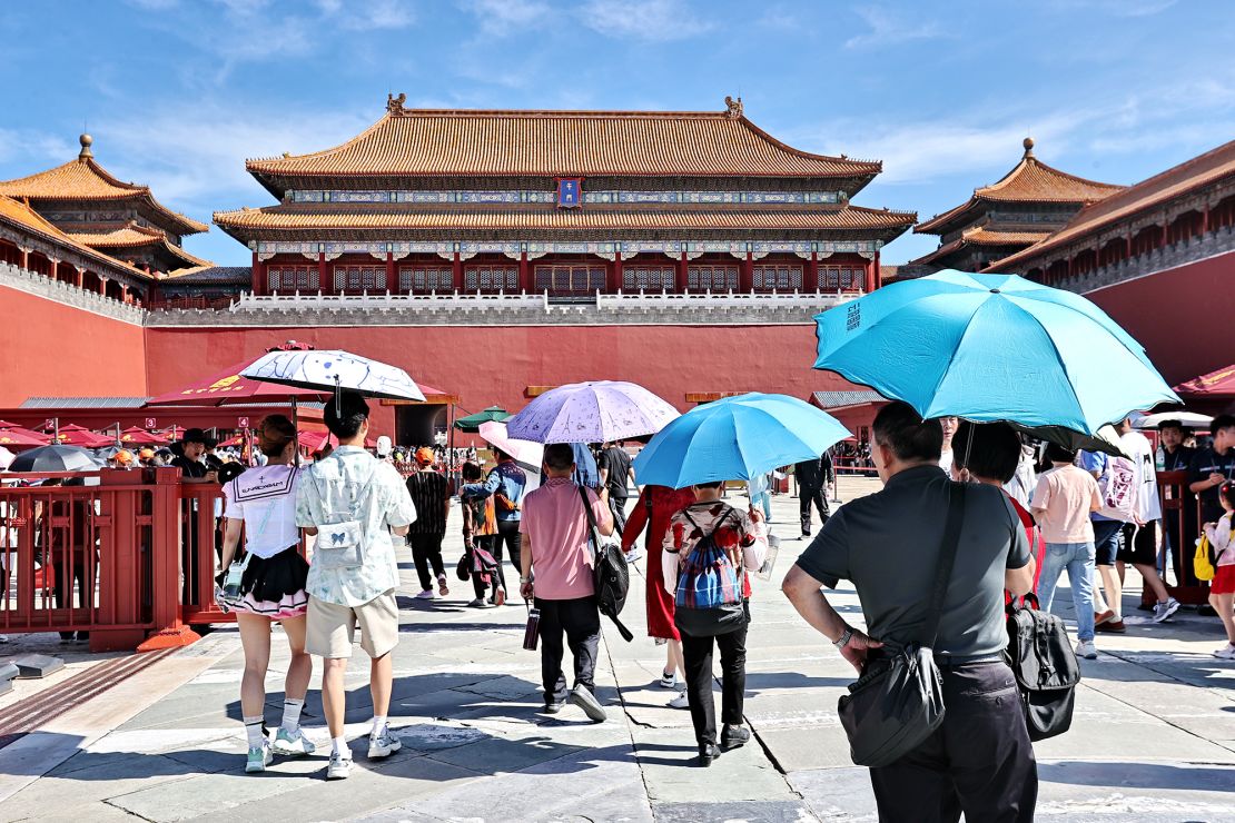
[[[409,110],[391,100],[332,149],[252,159],[263,176],[631,175],[873,178],[877,162],[810,154],[741,114]],[[287,186],[294,188],[294,186]]]

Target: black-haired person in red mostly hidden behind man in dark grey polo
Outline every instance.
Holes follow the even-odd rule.
[[[1046,543],[1037,528],[1037,522],[1029,508],[1020,505],[1015,495],[1008,491],[1008,484],[1019,470],[1023,450],[1020,434],[1008,423],[971,423],[962,421],[956,428],[952,440],[952,479],[958,482],[983,482],[994,486],[1008,495],[1020,526],[1025,529],[1029,542],[1030,564],[1034,568],[1034,586],[1037,591],[1037,575],[1042,569],[1042,554]],[[1030,490],[1032,491],[1032,490]],[[1010,601],[1011,595],[1005,600]]]

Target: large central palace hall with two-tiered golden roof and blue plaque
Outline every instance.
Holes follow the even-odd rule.
[[[279,202],[215,213],[256,295],[860,292],[914,215],[851,204],[881,164],[718,112],[385,115],[336,148],[248,160]]]

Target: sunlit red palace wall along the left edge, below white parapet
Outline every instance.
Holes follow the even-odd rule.
[[[143,329],[0,286],[0,407],[31,396],[141,397]]]

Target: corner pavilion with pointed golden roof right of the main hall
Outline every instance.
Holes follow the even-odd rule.
[[[998,183],[974,189],[960,206],[914,226],[915,233],[939,234],[940,244],[910,265],[925,267],[924,271],[981,271],[1063,228],[1088,204],[1123,189],[1051,168],[1034,155],[1029,137],[1024,147],[1020,163]]]

